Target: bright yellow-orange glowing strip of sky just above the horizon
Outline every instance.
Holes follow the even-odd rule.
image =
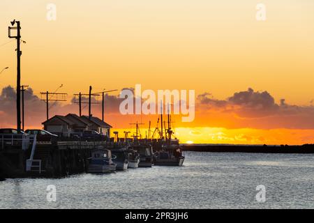
[[[114,129],[123,137],[124,131],[130,131],[128,137],[135,134],[135,129]],[[153,130],[154,131],[154,130]],[[141,129],[144,138],[147,129]],[[112,134],[113,135],[113,134]],[[258,130],[251,128],[175,128],[174,137],[181,144],[267,144],[267,145],[301,145],[312,144],[314,130],[272,129]]]

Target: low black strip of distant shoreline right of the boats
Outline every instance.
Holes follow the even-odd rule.
[[[183,151],[210,153],[314,153],[314,144],[301,146],[232,145],[232,144],[181,144]]]

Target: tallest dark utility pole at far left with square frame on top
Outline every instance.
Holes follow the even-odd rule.
[[[14,26],[14,24],[17,24],[17,26]],[[8,37],[9,38],[15,38],[17,40],[17,86],[16,86],[16,115],[17,115],[17,132],[21,132],[21,55],[22,51],[20,51],[20,42],[21,42],[21,26],[20,21],[11,22],[11,25],[14,26],[8,26]],[[11,36],[10,31],[11,30],[17,30],[17,36]]]

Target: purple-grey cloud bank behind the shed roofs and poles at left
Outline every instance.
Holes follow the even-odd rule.
[[[101,97],[101,96],[100,96]],[[115,95],[105,94],[105,115],[117,114],[122,99]],[[100,98],[101,100],[101,98]],[[91,101],[98,102],[96,98]],[[77,98],[72,98],[69,104],[61,104],[59,102],[51,102],[49,105],[50,117],[60,114],[79,113],[79,105]],[[87,97],[82,97],[82,102],[88,102]],[[101,101],[99,104],[92,105],[92,114],[101,117]],[[28,88],[24,92],[24,114],[25,124],[27,127],[41,128],[41,123],[46,120],[46,104],[40,100],[37,95],[33,94],[33,90]],[[88,114],[88,105],[82,104],[82,114]],[[16,125],[16,91],[12,86],[6,86],[2,89],[0,95],[0,128],[15,127]]]

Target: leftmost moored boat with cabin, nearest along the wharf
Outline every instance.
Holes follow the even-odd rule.
[[[117,164],[112,162],[111,151],[108,149],[96,149],[91,151],[89,160],[88,173],[103,174],[116,170]]]

